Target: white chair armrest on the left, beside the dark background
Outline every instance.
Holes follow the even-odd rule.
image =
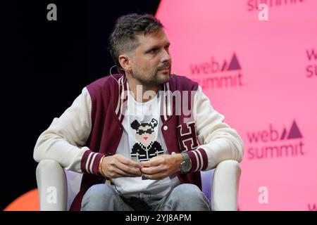
[[[37,165],[39,210],[64,211],[67,207],[67,182],[64,169],[54,160],[42,160]]]

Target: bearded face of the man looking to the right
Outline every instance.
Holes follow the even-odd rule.
[[[162,29],[138,34],[139,45],[131,57],[132,76],[144,86],[159,86],[168,82],[172,60],[168,50],[170,41]]]

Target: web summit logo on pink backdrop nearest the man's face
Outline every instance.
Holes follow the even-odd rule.
[[[213,56],[209,62],[190,65],[193,80],[203,89],[221,89],[242,86],[241,66],[235,53],[230,63],[224,60],[220,63]]]

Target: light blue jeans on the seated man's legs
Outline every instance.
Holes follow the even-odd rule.
[[[194,184],[180,184],[163,198],[139,193],[124,198],[108,184],[91,186],[82,198],[82,211],[210,211],[210,203]]]

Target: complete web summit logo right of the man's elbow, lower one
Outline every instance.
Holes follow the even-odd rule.
[[[247,140],[250,146],[247,149],[248,160],[305,155],[303,136],[295,121],[289,131],[284,128],[278,132],[270,124],[268,130],[247,133]]]

